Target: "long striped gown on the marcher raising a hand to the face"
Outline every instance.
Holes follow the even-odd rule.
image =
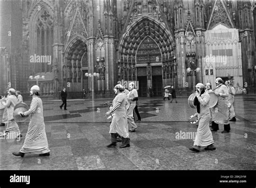
[[[209,127],[210,114],[210,95],[205,92],[198,96],[200,103],[200,113],[198,114],[199,126],[197,128],[197,135],[194,140],[194,145],[205,147],[214,143],[212,132]]]

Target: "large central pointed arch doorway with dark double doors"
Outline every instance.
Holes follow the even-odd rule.
[[[126,31],[119,44],[118,80],[139,81],[139,96],[163,94],[163,87],[174,83],[171,72],[175,41],[161,23],[143,17]]]

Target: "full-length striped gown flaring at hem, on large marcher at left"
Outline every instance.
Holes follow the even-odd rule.
[[[30,115],[28,133],[20,152],[31,154],[45,154],[50,152],[45,132],[43,102],[38,96],[33,97],[30,109],[24,113]]]

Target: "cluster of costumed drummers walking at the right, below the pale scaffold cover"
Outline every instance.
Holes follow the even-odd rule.
[[[221,78],[215,79],[215,85],[214,90],[212,90],[211,83],[206,83],[206,86],[203,83],[196,85],[194,105],[197,107],[199,125],[193,147],[190,148],[191,151],[199,152],[202,147],[205,147],[205,150],[215,150],[211,131],[219,130],[219,124],[224,124],[224,130],[221,133],[229,133],[230,121],[235,121],[234,88],[230,86],[229,82],[224,85]],[[210,92],[214,92],[218,96],[218,102],[213,108],[210,108]],[[212,129],[210,129],[211,119]]]

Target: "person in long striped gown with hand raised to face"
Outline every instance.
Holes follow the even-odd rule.
[[[194,145],[190,148],[191,151],[199,152],[201,147],[206,147],[205,150],[215,150],[213,145],[212,132],[209,127],[210,114],[210,95],[205,92],[205,86],[203,83],[196,85],[197,92],[194,105],[197,106],[197,116],[199,120],[199,126],[197,128],[197,135],[194,140]]]

